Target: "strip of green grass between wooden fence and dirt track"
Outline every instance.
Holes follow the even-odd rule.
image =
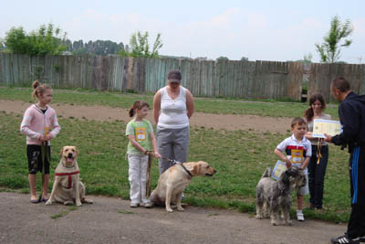
[[[0,87],[2,100],[19,100],[32,102],[32,90],[26,88]],[[103,92],[91,90],[54,90],[52,103],[79,105],[104,105],[110,107],[130,108],[136,100],[144,100],[152,106],[152,95],[140,95],[120,92]],[[307,103],[279,101],[241,101],[226,99],[195,98],[195,111],[222,114],[252,114],[270,117],[302,116],[308,108]],[[328,106],[326,113],[338,118],[337,105]]]

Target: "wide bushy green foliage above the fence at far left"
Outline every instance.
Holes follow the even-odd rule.
[[[55,28],[53,24],[48,24],[47,27],[42,25],[37,31],[26,33],[23,27],[12,27],[6,33],[5,47],[16,54],[27,55],[57,55],[66,48],[61,44],[65,39],[61,36],[60,28]]]

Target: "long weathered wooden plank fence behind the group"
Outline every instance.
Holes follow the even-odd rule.
[[[55,88],[155,92],[167,73],[180,69],[183,86],[194,96],[300,100],[304,66],[296,62],[210,61],[119,56],[29,57],[0,53],[0,85],[29,86],[41,80]],[[365,69],[360,65],[319,65],[310,69],[308,94],[329,97],[329,82],[343,75],[352,88],[365,93]]]

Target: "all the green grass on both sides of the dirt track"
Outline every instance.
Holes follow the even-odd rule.
[[[29,94],[30,90],[26,89],[0,89],[0,99],[30,101]],[[55,90],[53,102],[69,103],[69,101],[73,101],[75,104],[130,107],[130,96],[135,97],[136,95]],[[151,96],[144,96],[143,99],[151,101]],[[216,108],[211,103],[216,103]],[[208,101],[203,99],[196,101],[199,111],[205,112],[224,113],[224,111],[226,112],[224,107],[227,107],[227,104],[237,108],[243,106],[245,109],[239,111],[248,114],[261,114],[249,112],[255,111],[255,108],[261,108],[262,114],[266,116],[279,116],[279,112],[276,111],[277,107],[289,113],[290,116],[300,115],[293,114],[306,108],[305,105],[299,103]],[[333,108],[333,110],[337,109]],[[26,139],[19,133],[21,120],[22,117],[19,114],[0,112],[0,186],[27,193]],[[124,136],[125,122],[95,122],[60,118],[59,123],[62,126],[61,133],[52,141],[52,167],[57,165],[58,152],[63,145],[77,145],[80,150],[78,164],[88,194],[120,196],[128,199],[128,162],[125,157],[128,141]],[[185,202],[194,206],[237,208],[243,212],[254,213],[255,185],[265,168],[273,167],[276,163],[276,156],[273,154],[274,148],[288,135],[288,133],[214,131],[192,127],[189,161],[206,161],[214,166],[217,174],[214,177],[194,178],[192,184],[185,190]],[[325,180],[325,210],[316,212],[306,209],[306,217],[335,222],[348,220],[348,158],[349,154],[330,145]],[[51,175],[53,172],[52,168]],[[152,187],[154,187],[158,179],[156,160],[153,161],[151,175]],[[308,196],[306,201],[308,203]],[[295,209],[295,205],[294,202],[293,209]]]

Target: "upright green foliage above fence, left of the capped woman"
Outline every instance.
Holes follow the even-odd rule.
[[[159,49],[163,46],[161,34],[157,34],[151,50],[148,37],[149,33],[147,31],[144,34],[141,34],[140,31],[133,33],[130,36],[130,47],[122,49],[120,51],[120,56],[134,58],[159,58]]]

